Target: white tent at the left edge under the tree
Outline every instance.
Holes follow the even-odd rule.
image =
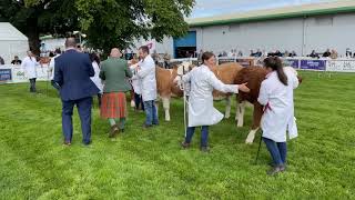
[[[9,22],[0,22],[0,57],[10,64],[14,56],[22,60],[29,50],[29,40]]]

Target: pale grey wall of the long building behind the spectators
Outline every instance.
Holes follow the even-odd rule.
[[[346,48],[355,51],[355,13],[270,20],[227,26],[192,28],[196,31],[197,51],[201,49],[220,53],[231,49],[242,50],[244,56],[251,50],[296,51],[298,56],[312,50],[324,52],[336,49],[345,54]],[[166,38],[156,44],[159,52],[173,54],[173,39]]]

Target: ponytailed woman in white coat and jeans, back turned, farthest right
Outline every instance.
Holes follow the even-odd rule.
[[[298,87],[298,79],[294,70],[283,68],[277,57],[266,58],[264,67],[267,76],[261,84],[257,101],[264,106],[261,128],[273,159],[273,167],[267,174],[276,174],[286,167],[286,131],[288,130],[290,139],[297,134],[293,90]]]

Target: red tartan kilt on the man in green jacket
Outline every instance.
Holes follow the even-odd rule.
[[[103,93],[100,116],[103,119],[125,118],[126,117],[125,93],[123,92]]]

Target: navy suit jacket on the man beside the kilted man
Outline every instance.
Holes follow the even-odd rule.
[[[98,94],[100,90],[90,79],[94,74],[89,54],[70,49],[54,59],[54,81],[63,101]]]

